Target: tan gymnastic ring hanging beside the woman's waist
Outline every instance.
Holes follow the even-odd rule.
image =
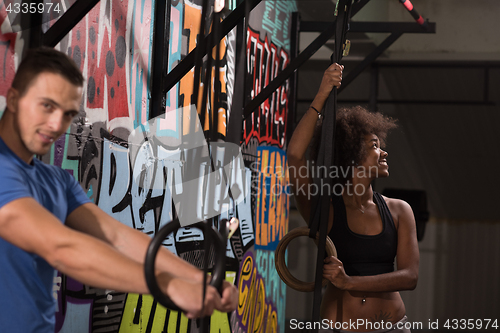
[[[288,267],[286,267],[285,263],[285,251],[288,247],[288,244],[292,241],[292,239],[297,238],[299,236],[309,236],[309,228],[308,227],[299,227],[295,228],[289,233],[287,233],[281,241],[278,243],[276,247],[276,251],[274,252],[274,262],[276,266],[276,271],[280,276],[281,280],[285,282],[287,286],[293,288],[298,291],[309,292],[314,291],[314,282],[304,282],[297,279],[293,276]],[[316,234],[315,243],[318,244],[319,234]],[[330,237],[326,236],[326,253],[328,256],[337,257],[337,249],[333,244]],[[328,283],[328,279],[323,278],[323,286]]]

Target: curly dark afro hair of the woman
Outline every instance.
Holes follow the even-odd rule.
[[[322,123],[318,123],[311,145],[310,158],[316,161],[319,153]],[[366,156],[365,135],[375,134],[381,147],[391,129],[397,127],[396,120],[381,113],[370,112],[362,106],[341,108],[337,111],[335,125],[334,165],[340,170],[349,170],[363,161]],[[348,180],[339,173],[338,182]]]

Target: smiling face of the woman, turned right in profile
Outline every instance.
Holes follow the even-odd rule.
[[[367,134],[364,138],[366,155],[358,165],[358,177],[384,178],[389,176],[387,152],[380,148],[380,140],[375,134]]]

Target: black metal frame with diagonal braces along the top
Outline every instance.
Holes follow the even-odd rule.
[[[35,1],[35,0],[33,0]],[[41,0],[36,0],[41,1]],[[255,8],[261,0],[246,0],[249,2],[249,8]],[[99,0],[77,0],[64,13],[56,23],[46,32],[41,32],[41,26],[30,34],[30,47],[38,45],[55,46],[62,38],[74,28],[74,26],[88,14],[88,12],[99,2]],[[352,5],[351,16],[359,12],[369,0],[361,0]],[[152,68],[153,74],[151,79],[151,106],[150,118],[159,116],[165,112],[164,99],[165,94],[177,84],[186,73],[194,66],[195,54],[198,47],[206,45],[206,43],[214,44],[219,41],[212,38],[211,33],[201,38],[199,45],[192,50],[170,73],[167,74],[168,68],[168,40],[169,40],[169,10],[170,1],[156,2],[155,15],[155,31],[153,40],[153,59]],[[238,22],[245,18],[245,2],[240,3],[221,24],[221,36],[227,35]],[[40,17],[31,17],[34,22],[40,21]],[[297,18],[296,18],[297,20]],[[301,53],[294,54],[291,63],[275,77],[261,92],[249,101],[244,107],[244,118],[248,117],[255,109],[258,108],[271,94],[279,88],[283,82],[294,75],[296,78],[296,70],[302,66],[321,46],[323,46],[335,32],[334,22],[299,22],[296,23],[296,28],[299,32],[316,31],[321,34]],[[349,85],[363,70],[372,64],[379,55],[381,55],[390,45],[392,45],[404,33],[434,33],[436,30],[435,23],[428,23],[427,28],[423,28],[417,23],[402,23],[402,22],[351,22],[350,32],[389,32],[391,33],[380,45],[377,46],[356,68],[351,70],[344,78],[341,92]],[[158,38],[163,36],[163,38]],[[299,34],[295,34],[295,45],[298,45]],[[214,45],[210,45],[210,48]],[[209,48],[204,47],[204,54]],[[293,51],[293,50],[292,50]],[[296,52],[296,50],[295,50]],[[292,87],[293,89],[293,87]],[[373,99],[375,100],[375,98]],[[293,106],[293,105],[292,105]]]

